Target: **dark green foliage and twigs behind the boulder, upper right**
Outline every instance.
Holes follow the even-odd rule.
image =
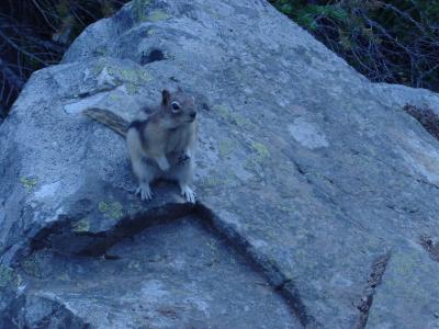
[[[270,0],[372,81],[439,90],[439,0]]]

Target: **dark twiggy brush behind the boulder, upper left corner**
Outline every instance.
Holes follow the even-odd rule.
[[[58,63],[89,24],[127,0],[0,1],[0,118],[34,70]]]

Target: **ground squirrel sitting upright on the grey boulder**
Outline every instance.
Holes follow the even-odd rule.
[[[131,123],[103,109],[87,109],[83,114],[126,137],[133,171],[139,182],[136,194],[142,200],[151,200],[149,184],[155,179],[164,178],[176,180],[185,200],[195,202],[195,194],[190,188],[198,133],[192,95],[180,88],[176,92],[165,89],[160,105],[145,109],[139,118]]]

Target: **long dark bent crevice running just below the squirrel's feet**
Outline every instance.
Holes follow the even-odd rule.
[[[71,223],[82,217],[83,214],[79,217],[74,216],[75,218],[65,216],[35,235],[26,253],[21,253],[19,257],[24,259],[32,257],[37,250],[48,249],[64,256],[102,258],[103,260],[114,261],[120,259],[120,256],[108,253],[108,250],[115,243],[142,232],[148,227],[169,224],[191,214],[195,218],[199,218],[209,231],[224,239],[233,249],[241,254],[250,268],[260,273],[272,290],[280,294],[286,302],[292,315],[304,327],[320,327],[306,309],[294,282],[282,273],[279,265],[273,260],[258,252],[234,227],[221,220],[213,211],[201,203],[196,203],[195,206],[188,203],[170,203],[165,206],[147,208],[143,212],[126,215],[109,231],[98,234],[71,231]],[[74,247],[69,249],[70,246]]]

